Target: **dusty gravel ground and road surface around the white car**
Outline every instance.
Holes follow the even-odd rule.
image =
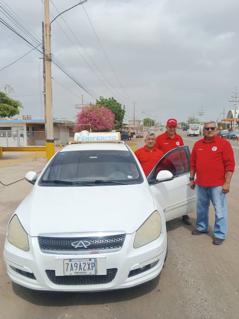
[[[179,133],[185,137],[185,132],[179,130]],[[192,149],[199,138],[185,137],[184,142]],[[136,139],[136,142],[137,145],[132,147],[144,145],[143,139]],[[191,235],[196,222],[195,212],[191,214],[192,226],[184,225],[180,218],[170,221],[167,223],[169,254],[161,276],[132,289],[104,293],[43,293],[22,288],[11,283],[0,257],[1,318],[238,318],[239,150],[234,149],[234,153],[236,171],[228,194],[228,235],[223,245],[212,244],[212,208],[209,234]],[[45,159],[38,158],[2,167],[0,181],[14,182],[29,170],[39,172],[45,163]],[[25,181],[7,187],[0,185],[1,256],[9,217],[31,187]],[[132,200],[137,201],[137,198]]]

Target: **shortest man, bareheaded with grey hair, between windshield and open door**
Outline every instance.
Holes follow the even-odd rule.
[[[138,149],[134,154],[139,160],[144,174],[148,176],[157,161],[163,156],[163,152],[155,148],[156,136],[153,132],[146,135],[145,146]]]

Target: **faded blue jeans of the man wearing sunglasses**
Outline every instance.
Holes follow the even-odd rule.
[[[225,239],[227,234],[227,196],[222,193],[222,186],[201,186],[197,191],[197,229],[208,232],[210,200],[215,209],[214,237]]]

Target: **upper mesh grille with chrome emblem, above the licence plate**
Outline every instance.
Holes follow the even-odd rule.
[[[102,237],[41,237],[38,236],[38,243],[42,252],[56,253],[75,253],[77,251],[100,251],[107,252],[108,250],[120,250],[125,240],[125,234],[102,236]],[[81,242],[76,247],[77,242]],[[75,246],[72,246],[74,243]],[[82,244],[86,244],[84,247]],[[80,247],[81,246],[81,247]]]

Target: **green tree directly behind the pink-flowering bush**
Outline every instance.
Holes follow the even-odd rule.
[[[115,129],[118,130],[122,124],[124,119],[125,110],[122,108],[122,105],[117,102],[113,97],[109,99],[105,99],[103,96],[100,96],[99,100],[96,100],[96,104],[100,104],[105,108],[109,108],[114,114],[115,121],[117,121],[117,125]]]

